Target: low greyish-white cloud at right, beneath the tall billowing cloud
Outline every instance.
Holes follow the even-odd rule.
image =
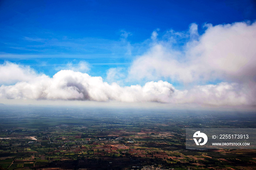
[[[251,100],[253,98],[253,100]],[[211,105],[211,106],[237,106],[255,105],[255,96],[245,86],[237,83],[221,82],[217,85],[209,84],[195,86],[190,90],[176,90],[173,97],[175,103]]]

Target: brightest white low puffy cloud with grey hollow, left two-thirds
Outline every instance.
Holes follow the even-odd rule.
[[[61,70],[53,78],[41,75],[30,81],[0,87],[1,98],[36,100],[166,102],[173,92],[174,88],[168,82],[147,82],[144,86],[121,87],[116,83],[103,82],[101,77],[92,77],[72,70]]]

